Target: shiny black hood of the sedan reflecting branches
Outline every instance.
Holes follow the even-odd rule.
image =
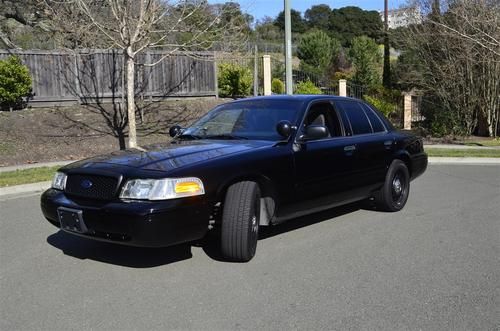
[[[72,163],[64,169],[127,166],[142,170],[170,171],[227,155],[273,145],[255,140],[194,140],[156,144],[117,151]]]

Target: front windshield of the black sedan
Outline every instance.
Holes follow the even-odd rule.
[[[297,121],[300,103],[285,100],[235,102],[218,106],[191,127],[181,138],[281,140],[278,122]]]

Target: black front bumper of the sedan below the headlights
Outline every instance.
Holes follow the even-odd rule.
[[[81,210],[85,238],[131,246],[165,247],[203,238],[208,230],[212,206],[206,198],[192,197],[153,201],[81,201],[49,189],[42,194],[45,218],[60,228],[57,209]]]

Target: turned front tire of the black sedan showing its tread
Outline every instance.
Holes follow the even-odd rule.
[[[235,262],[248,262],[259,237],[260,189],[245,181],[229,187],[224,201],[221,228],[222,255]]]

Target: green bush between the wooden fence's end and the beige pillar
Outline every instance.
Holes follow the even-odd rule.
[[[237,98],[250,95],[253,85],[252,72],[233,63],[219,65],[219,96]]]

